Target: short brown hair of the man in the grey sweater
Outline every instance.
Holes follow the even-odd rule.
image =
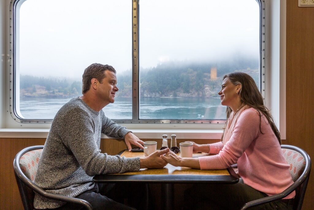
[[[116,70],[111,65],[93,63],[92,65],[87,67],[84,70],[84,73],[82,76],[83,77],[82,78],[82,82],[83,82],[82,94],[86,93],[89,90],[90,85],[91,85],[91,80],[93,78],[97,79],[100,83],[102,83],[102,80],[106,77],[106,75],[104,74],[106,70],[112,71],[116,74]]]

